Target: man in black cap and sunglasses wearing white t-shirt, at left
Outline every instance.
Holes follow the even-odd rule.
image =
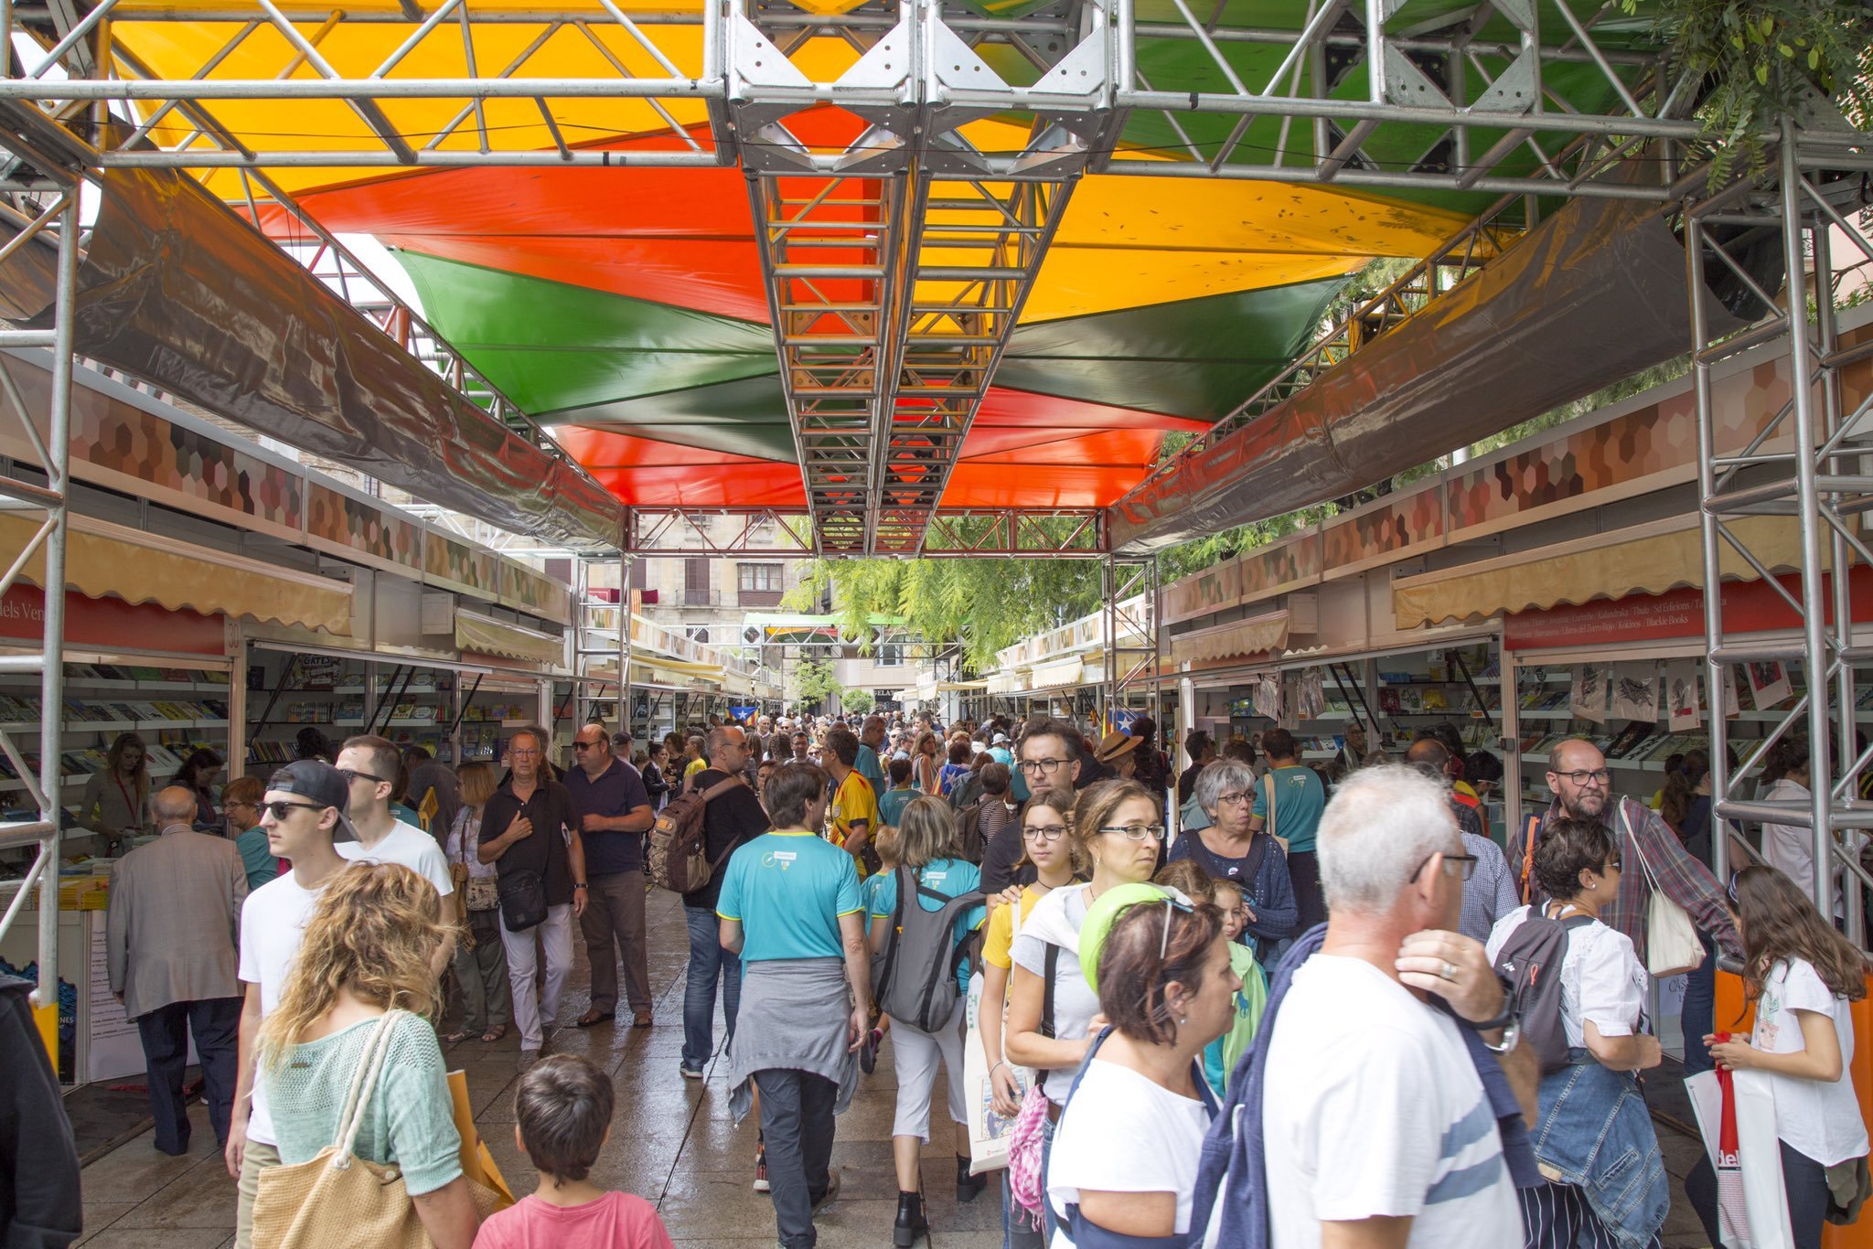
[[[288,860],[292,871],[249,893],[240,912],[238,976],[245,1000],[234,1067],[234,1116],[225,1150],[229,1174],[240,1182],[234,1215],[234,1243],[240,1249],[253,1245],[253,1198],[260,1170],[279,1167],[273,1120],[253,1079],[255,1041],[260,1021],[279,1006],[318,895],[347,867],[332,843],[341,835],[356,841],[345,816],[348,805],[350,785],[320,758],[302,758],[275,771],[260,801],[268,852]]]

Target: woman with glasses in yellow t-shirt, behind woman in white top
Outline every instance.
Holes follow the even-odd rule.
[[[995,764],[1000,768],[1000,764]],[[1002,770],[1006,773],[1006,768]],[[1021,848],[1017,867],[1034,873],[1034,884],[1021,889],[1019,904],[996,906],[989,912],[987,934],[981,942],[981,1013],[976,1028],[981,1052],[995,1088],[995,1112],[1013,1118],[1021,1112],[1026,1088],[1002,1049],[1002,1026],[1008,1004],[1008,974],[1013,968],[1011,946],[1015,934],[1032,914],[1034,904],[1054,889],[1073,884],[1079,867],[1079,846],[1073,841],[1073,790],[1041,790],[1028,798],[1021,813]],[[1002,1172],[1002,1245],[1004,1249],[1040,1249],[1040,1219],[1028,1215],[1008,1187]]]

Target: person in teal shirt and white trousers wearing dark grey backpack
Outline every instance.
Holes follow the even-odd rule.
[[[897,914],[899,882],[908,874],[916,882],[916,903],[923,910],[942,910],[944,903],[981,888],[981,869],[957,858],[955,818],[950,803],[940,798],[916,798],[905,807],[897,826],[899,869],[884,878],[871,899],[871,949],[884,953],[892,938],[892,916]],[[927,897],[925,891],[938,897]],[[985,910],[974,906],[955,921],[955,944],[981,927]],[[955,1007],[950,1019],[933,1032],[923,1032],[907,1019],[892,1019],[892,1054],[897,1064],[897,1118],[892,1124],[892,1153],[897,1161],[897,1227],[895,1242],[908,1247],[929,1230],[923,1212],[923,1182],[918,1178],[918,1153],[929,1140],[931,1090],[936,1084],[936,1064],[942,1062],[944,1084],[950,1094],[950,1118],[955,1122],[955,1197],[968,1202],[987,1183],[985,1176],[968,1174],[968,1103],[963,1088],[963,1011],[968,1006],[968,961],[957,966]],[[907,1240],[908,1238],[908,1240]]]

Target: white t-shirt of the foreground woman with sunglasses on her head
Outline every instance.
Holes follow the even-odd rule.
[[[1071,1088],[1071,1080],[1066,1084]],[[1079,1080],[1079,1095],[1060,1116],[1047,1161],[1047,1200],[1060,1221],[1053,1249],[1073,1249],[1066,1208],[1079,1202],[1081,1189],[1176,1193],[1174,1230],[1189,1232],[1206,1131],[1210,1109],[1202,1101],[1178,1097],[1131,1067],[1094,1058]],[[1124,1148],[1114,1148],[1118,1140]]]

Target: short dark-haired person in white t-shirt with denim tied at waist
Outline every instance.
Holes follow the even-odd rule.
[[[1669,1189],[1635,1079],[1659,1064],[1658,1037],[1641,1032],[1646,970],[1631,938],[1600,919],[1620,891],[1620,850],[1600,820],[1560,816],[1549,820],[1532,867],[1549,899],[1543,914],[1568,934],[1560,964],[1568,1065],[1541,1077],[1534,1148],[1543,1176],[1564,1174],[1570,1183],[1543,1178],[1515,1191],[1526,1245],[1573,1249],[1583,1232],[1592,1245],[1656,1245]],[[1497,921],[1491,962],[1532,912],[1521,906]]]

